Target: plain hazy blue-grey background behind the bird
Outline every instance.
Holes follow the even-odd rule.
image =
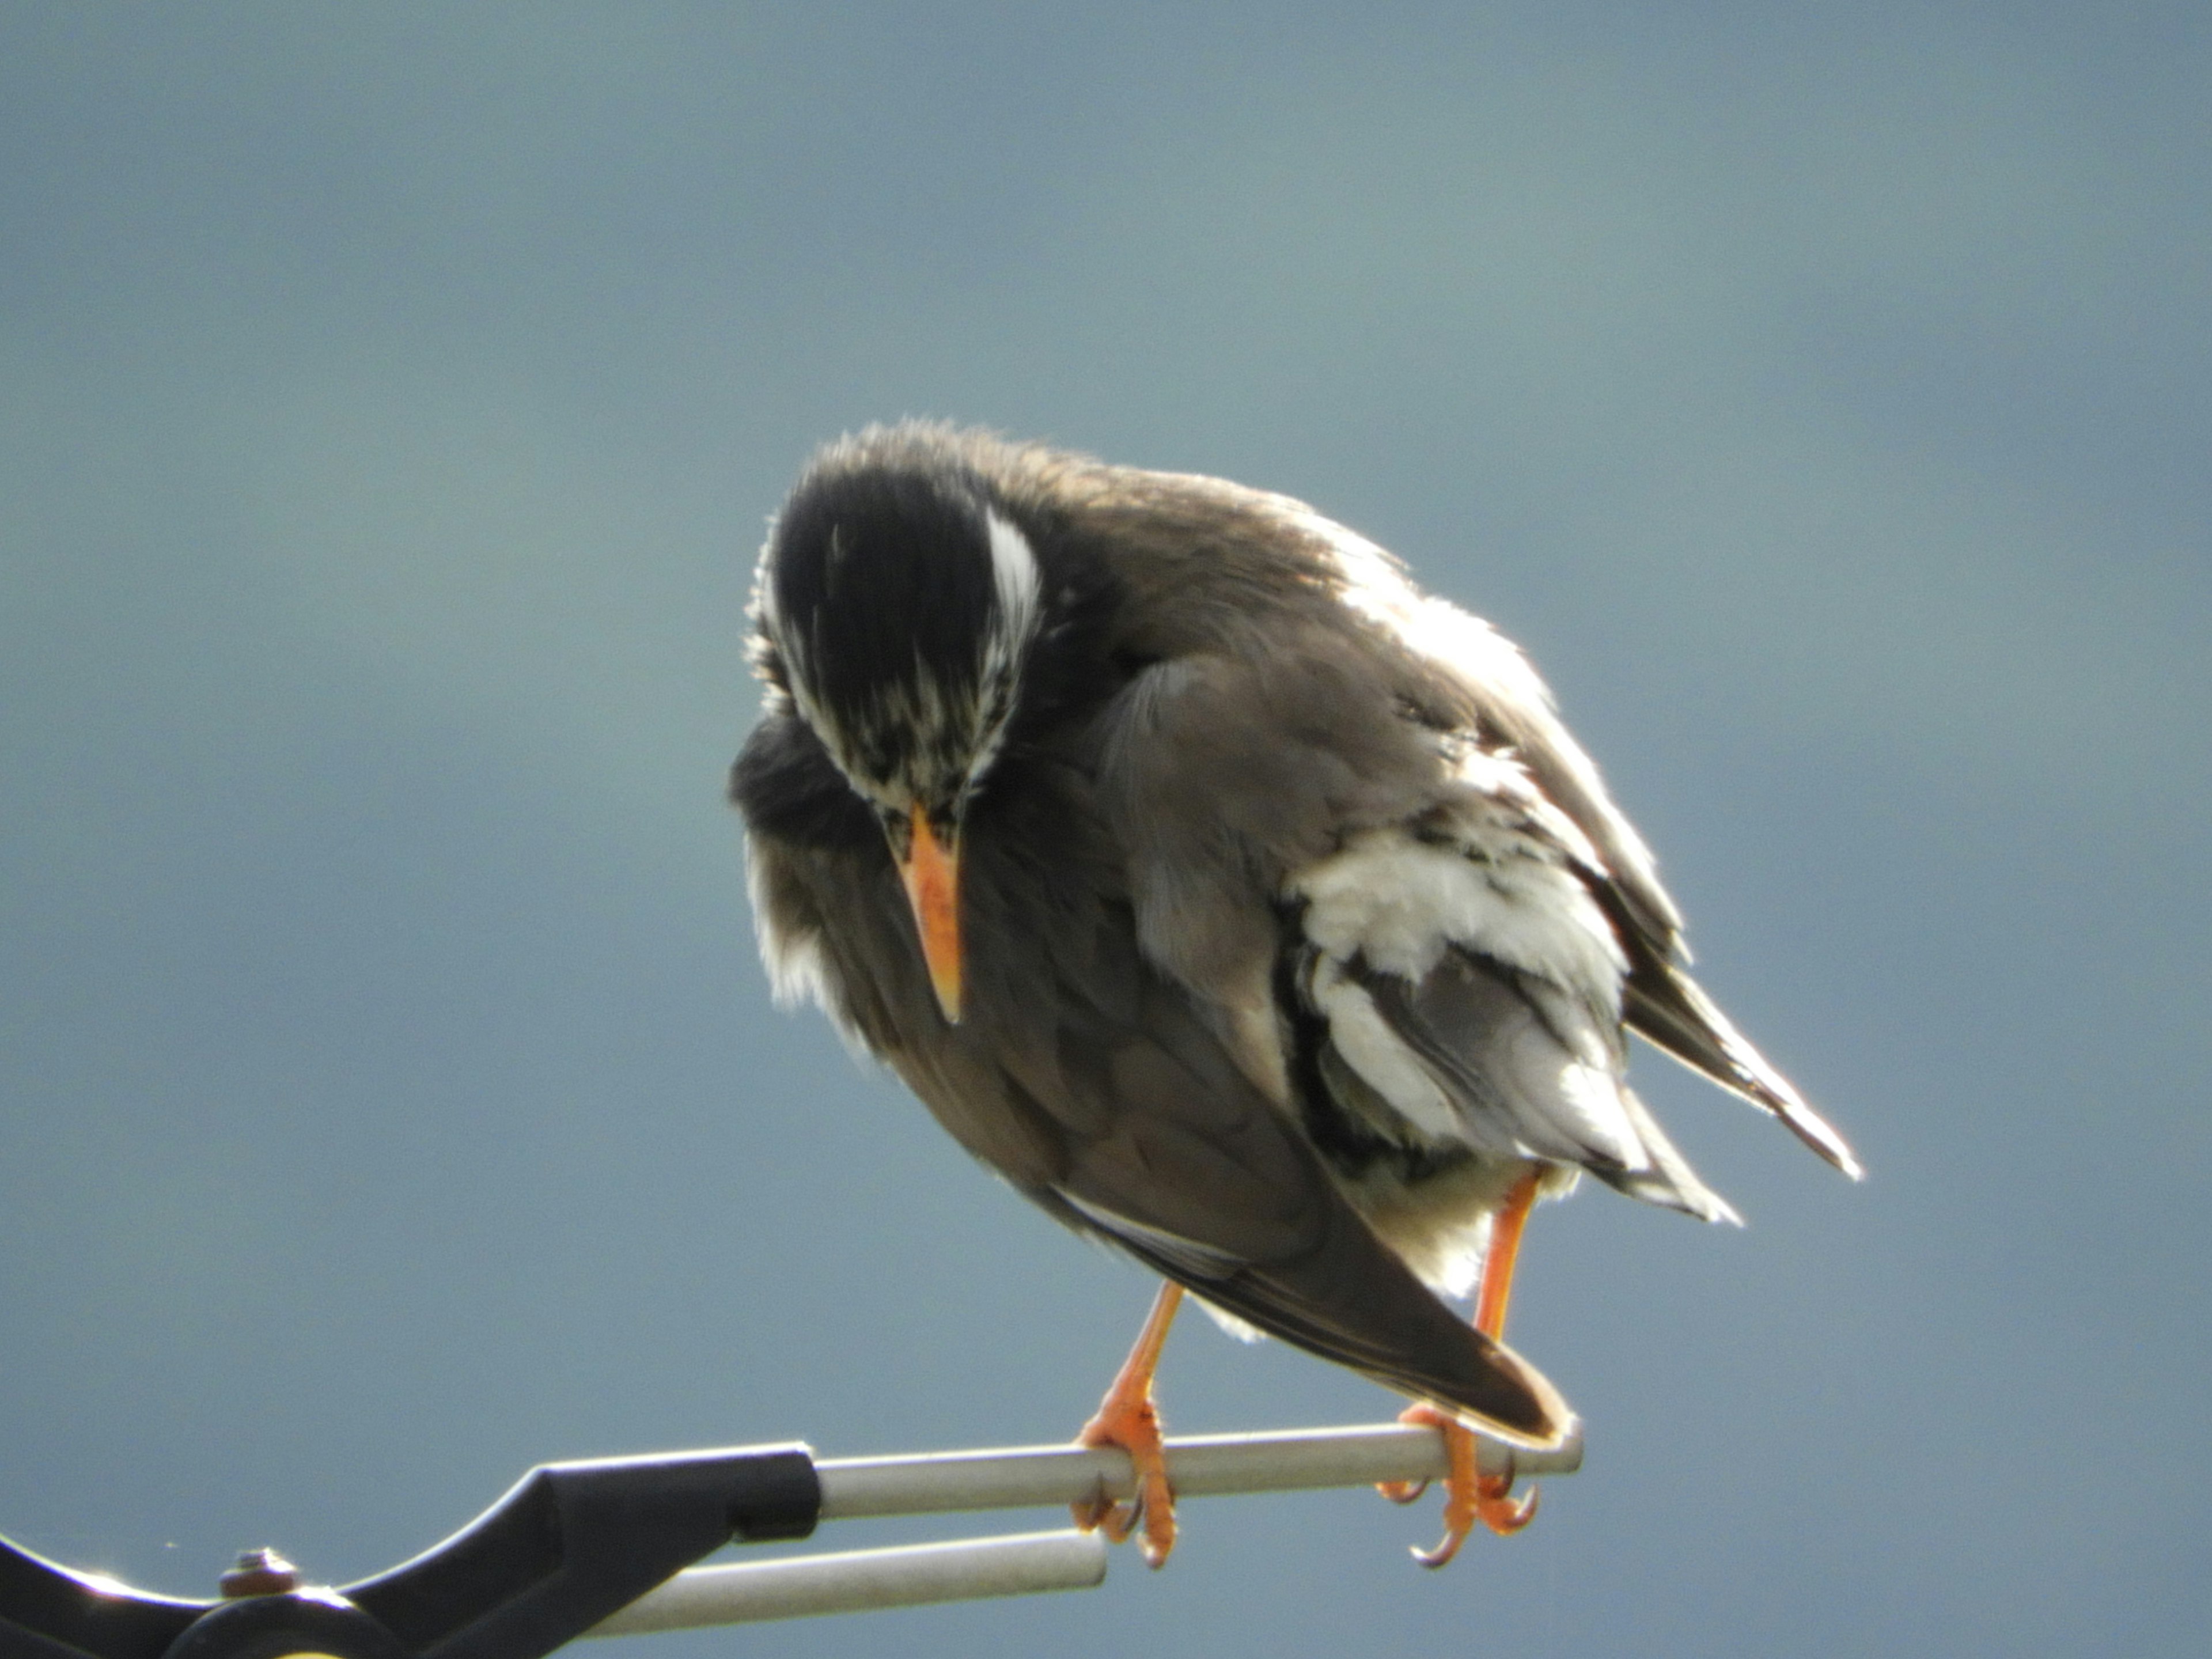
[[[765,515],[938,414],[1506,628],[1871,1175],[1646,1053],[1750,1228],[1537,1217],[1588,1464],[1449,1573],[1206,1500],[639,1655],[2205,1652],[2208,71],[2192,4],[13,0],[0,1533],[208,1595],[553,1458],[1073,1433],[1150,1283],[770,1009],[721,805]],[[1206,1321],[1164,1402],[1396,1409]]]

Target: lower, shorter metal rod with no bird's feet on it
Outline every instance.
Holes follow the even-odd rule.
[[[801,1555],[783,1562],[692,1566],[584,1635],[639,1637],[708,1624],[1088,1590],[1104,1579],[1106,1540],[1097,1533],[1020,1533],[956,1544]]]

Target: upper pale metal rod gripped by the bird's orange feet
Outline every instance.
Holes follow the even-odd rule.
[[[1582,1467],[1582,1436],[1555,1451],[1478,1440],[1493,1475],[1566,1475]],[[1133,1478],[1119,1447],[1015,1447],[936,1451],[911,1458],[816,1460],[823,1520],[860,1515],[942,1515],[967,1509],[1026,1509],[1095,1498],[1128,1498]],[[1444,1438],[1418,1425],[1292,1429],[1168,1440],[1168,1480],[1177,1498],[1237,1491],[1367,1486],[1380,1480],[1440,1480]]]

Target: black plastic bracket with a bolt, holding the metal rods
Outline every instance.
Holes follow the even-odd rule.
[[[730,1542],[807,1537],[805,1447],[555,1462],[341,1590],[179,1601],[0,1540],[0,1659],[542,1659]]]

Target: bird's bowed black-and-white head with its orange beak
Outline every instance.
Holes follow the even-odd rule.
[[[763,672],[883,825],[951,1022],[960,827],[1006,739],[1040,611],[1029,538],[942,451],[832,447],[761,551]]]

